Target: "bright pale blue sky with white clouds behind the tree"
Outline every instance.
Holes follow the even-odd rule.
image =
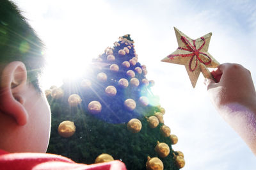
[[[131,34],[138,61],[166,109],[164,122],[179,137],[183,169],[247,169],[256,157],[212,106],[200,75],[192,88],[182,65],[160,62],[178,47],[173,27],[196,39],[212,32],[209,53],[220,63],[239,63],[256,82],[256,1],[61,1],[14,0],[45,43],[44,88],[83,72],[92,60]]]

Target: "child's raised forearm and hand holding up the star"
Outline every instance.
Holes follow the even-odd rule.
[[[256,155],[256,92],[249,70],[225,63],[205,80],[212,104]]]

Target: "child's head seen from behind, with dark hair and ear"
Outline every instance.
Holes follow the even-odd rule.
[[[8,0],[0,1],[0,149],[45,151],[49,105],[38,75],[44,66],[42,42]]]

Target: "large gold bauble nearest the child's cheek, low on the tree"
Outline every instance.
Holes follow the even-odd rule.
[[[70,137],[76,132],[76,126],[73,121],[62,121],[58,127],[58,133],[62,137]]]

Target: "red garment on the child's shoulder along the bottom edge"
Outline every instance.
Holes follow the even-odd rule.
[[[77,164],[69,158],[49,153],[8,153],[0,150],[0,169],[75,169],[75,170],[125,170],[125,165],[119,160],[101,164]]]

